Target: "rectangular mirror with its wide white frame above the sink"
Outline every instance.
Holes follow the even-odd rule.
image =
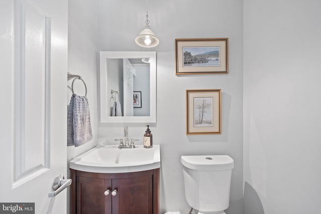
[[[156,122],[156,52],[100,51],[100,122]]]

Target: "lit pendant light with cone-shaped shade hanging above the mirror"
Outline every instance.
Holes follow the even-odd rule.
[[[135,42],[137,45],[144,47],[144,48],[153,48],[156,47],[159,43],[158,38],[155,34],[150,30],[149,27],[149,20],[148,20],[148,4],[146,0],[146,21],[145,21],[145,28],[139,33],[136,37]]]

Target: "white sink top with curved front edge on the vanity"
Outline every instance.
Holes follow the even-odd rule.
[[[118,145],[106,145],[92,148],[69,162],[72,169],[98,172],[121,173],[155,169],[161,167],[161,152],[159,145],[144,148],[119,149]]]

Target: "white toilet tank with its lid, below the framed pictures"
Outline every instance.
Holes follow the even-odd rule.
[[[182,156],[185,198],[199,214],[224,214],[229,207],[233,159],[228,155]]]

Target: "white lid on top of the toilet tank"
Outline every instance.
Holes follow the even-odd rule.
[[[181,157],[184,166],[194,170],[218,171],[234,167],[233,159],[228,155],[187,155]]]

